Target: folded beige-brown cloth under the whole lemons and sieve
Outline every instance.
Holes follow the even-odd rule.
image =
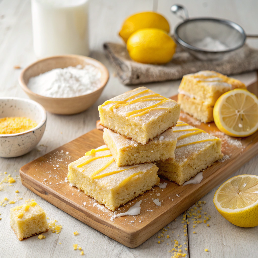
[[[258,69],[258,50],[248,45],[233,51],[226,59],[215,61],[198,60],[178,46],[173,59],[166,65],[135,62],[130,58],[125,45],[105,43],[103,47],[125,85],[178,80],[185,74],[200,70],[214,70],[232,75]]]

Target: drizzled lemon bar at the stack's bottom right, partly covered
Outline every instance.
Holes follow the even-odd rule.
[[[159,175],[180,186],[223,156],[219,138],[182,121],[178,121],[173,131],[178,139],[175,159],[158,161],[156,165]]]

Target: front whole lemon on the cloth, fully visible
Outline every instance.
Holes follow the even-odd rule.
[[[133,33],[127,41],[130,57],[140,63],[168,63],[176,50],[173,39],[160,29],[141,29]]]

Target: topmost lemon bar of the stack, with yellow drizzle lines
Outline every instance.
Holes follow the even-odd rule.
[[[175,126],[180,105],[146,87],[125,92],[99,106],[100,124],[145,144]]]

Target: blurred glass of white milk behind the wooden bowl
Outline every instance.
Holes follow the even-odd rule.
[[[34,51],[38,58],[89,54],[89,0],[31,0]]]

